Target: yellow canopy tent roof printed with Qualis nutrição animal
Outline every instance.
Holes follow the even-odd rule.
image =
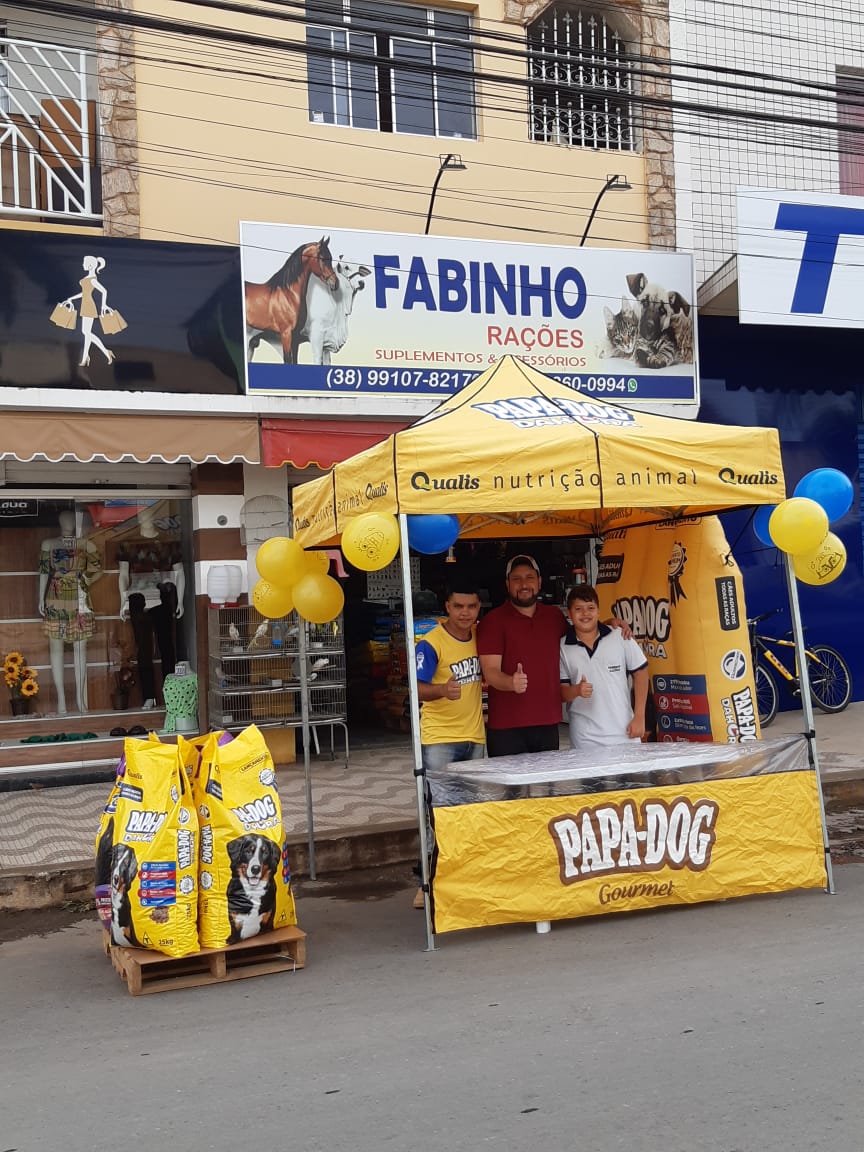
[[[367,511],[456,514],[462,538],[604,536],[779,503],[775,429],[698,424],[575,392],[506,356],[410,427],[294,490],[304,547]]]

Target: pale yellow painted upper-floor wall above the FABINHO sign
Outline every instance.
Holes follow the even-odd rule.
[[[524,86],[483,84],[476,141],[312,124],[305,59],[283,43],[302,48],[302,22],[177,0],[137,0],[136,8],[185,26],[218,21],[272,45],[137,33],[145,238],[236,243],[243,219],[422,233],[439,154],[458,152],[468,168],[445,173],[433,233],[576,244],[606,176],[621,173],[632,191],[604,197],[589,243],[647,247],[642,156],[530,142]],[[476,26],[520,33],[501,23],[502,9],[502,0],[484,0],[471,9]],[[485,75],[525,76],[518,55],[480,54],[477,67]]]

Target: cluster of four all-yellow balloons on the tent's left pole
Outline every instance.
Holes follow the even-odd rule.
[[[304,552],[288,536],[265,540],[255,558],[260,579],[252,589],[252,604],[263,616],[279,620],[294,608],[311,624],[335,620],[344,605],[344,592],[327,575],[326,552]]]

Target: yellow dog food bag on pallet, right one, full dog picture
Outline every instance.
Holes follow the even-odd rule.
[[[296,924],[276,774],[255,725],[228,744],[214,741],[202,750],[196,799],[202,947],[223,948]]]

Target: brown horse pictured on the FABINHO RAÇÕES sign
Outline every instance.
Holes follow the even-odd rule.
[[[300,334],[306,323],[309,278],[318,276],[331,291],[339,285],[328,242],[329,236],[321,236],[317,242],[301,244],[265,283],[247,280],[243,285],[250,361],[264,339],[281,344],[286,364],[297,363]]]

